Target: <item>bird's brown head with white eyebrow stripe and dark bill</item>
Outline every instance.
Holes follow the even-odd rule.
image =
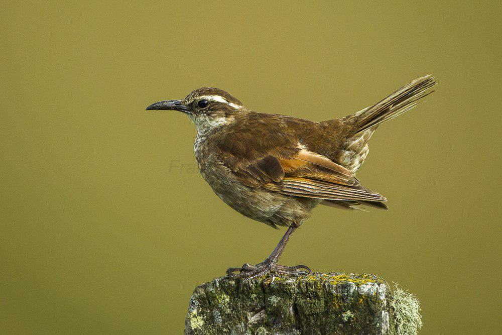
[[[205,133],[232,122],[247,108],[238,99],[219,88],[202,87],[192,91],[182,100],[156,102],[147,110],[178,110],[188,114],[197,132]]]

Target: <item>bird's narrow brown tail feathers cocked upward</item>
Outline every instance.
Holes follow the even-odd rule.
[[[374,105],[358,111],[355,114],[356,134],[392,120],[412,109],[420,103],[417,100],[434,92],[429,88],[436,84],[436,79],[428,74],[404,85]]]

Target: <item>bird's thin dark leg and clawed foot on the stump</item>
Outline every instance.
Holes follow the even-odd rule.
[[[274,249],[274,251],[270,254],[269,257],[265,259],[262,263],[257,264],[256,266],[244,264],[241,268],[229,268],[226,273],[227,276],[225,279],[251,279],[255,277],[259,277],[266,273],[277,273],[283,275],[290,276],[298,276],[302,274],[307,274],[305,271],[299,271],[299,269],[307,270],[308,273],[312,273],[312,271],[305,265],[297,265],[297,266],[284,266],[279,265],[279,257],[284,251],[286,244],[289,241],[291,235],[296,230],[296,227],[289,227],[286,233],[284,234],[279,244]],[[239,274],[233,274],[233,272],[240,271]]]

